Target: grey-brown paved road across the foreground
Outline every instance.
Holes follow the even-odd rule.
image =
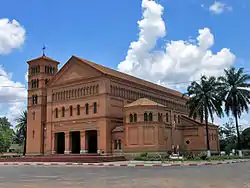
[[[1,188],[250,188],[250,163],[200,167],[0,166]]]

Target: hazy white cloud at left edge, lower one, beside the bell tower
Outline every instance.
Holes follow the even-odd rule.
[[[7,86],[7,87],[6,87]],[[25,109],[27,89],[20,82],[12,80],[12,74],[0,66],[0,114],[6,116],[12,123]]]

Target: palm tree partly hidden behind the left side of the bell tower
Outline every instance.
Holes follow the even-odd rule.
[[[23,155],[26,154],[26,132],[27,132],[27,111],[23,111],[19,117],[16,118],[16,135],[18,140],[24,144]]]

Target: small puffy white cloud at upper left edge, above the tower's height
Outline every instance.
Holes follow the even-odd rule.
[[[25,29],[16,21],[0,19],[0,55],[19,48],[25,40]]]

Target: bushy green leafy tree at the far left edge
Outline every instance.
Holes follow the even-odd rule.
[[[6,152],[13,139],[13,130],[6,117],[0,118],[0,153]]]

